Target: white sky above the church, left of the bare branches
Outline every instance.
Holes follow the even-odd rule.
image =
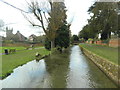
[[[5,0],[5,1],[23,10],[26,9],[24,7],[25,4],[23,4],[25,0],[20,0],[20,1]],[[0,2],[0,12],[1,12],[0,19],[2,19],[5,22],[5,24],[13,23],[13,24],[7,25],[9,28],[13,28],[14,30],[13,33],[16,33],[17,30],[19,30],[23,35],[27,37],[30,36],[31,34],[39,35],[38,31],[40,29],[30,26],[28,21],[21,14],[21,11]],[[5,33],[0,32],[0,35],[3,35],[3,34],[5,36]]]

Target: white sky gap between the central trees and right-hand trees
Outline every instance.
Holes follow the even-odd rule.
[[[87,24],[89,7],[94,3],[93,0],[65,0],[68,8],[68,18],[74,16],[71,25],[72,34],[78,34],[84,25]]]

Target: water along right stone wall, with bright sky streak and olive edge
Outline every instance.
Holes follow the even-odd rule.
[[[116,87],[99,68],[85,57],[79,46],[72,47],[67,87],[109,88]]]

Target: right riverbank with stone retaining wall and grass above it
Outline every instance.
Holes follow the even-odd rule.
[[[117,52],[114,52],[114,51],[106,53],[109,51],[109,49],[111,50],[111,49],[116,49],[116,48],[89,45],[89,44],[82,44],[82,45],[80,45],[80,47],[81,47],[83,53],[88,58],[90,58],[112,81],[114,81],[117,85],[120,86],[120,80],[119,80],[119,75],[118,75],[119,74],[119,72],[118,72],[119,66],[116,63],[117,60],[112,60],[113,58],[112,59],[105,58],[105,56],[107,57],[107,56],[111,55],[110,57],[112,57],[114,54],[116,54]],[[103,47],[103,49],[102,49],[102,47]],[[107,48],[107,49],[105,49],[105,48]],[[106,52],[104,52],[104,51],[106,51]],[[103,55],[103,54],[105,54],[105,55]],[[114,59],[116,59],[116,58],[114,58]]]

